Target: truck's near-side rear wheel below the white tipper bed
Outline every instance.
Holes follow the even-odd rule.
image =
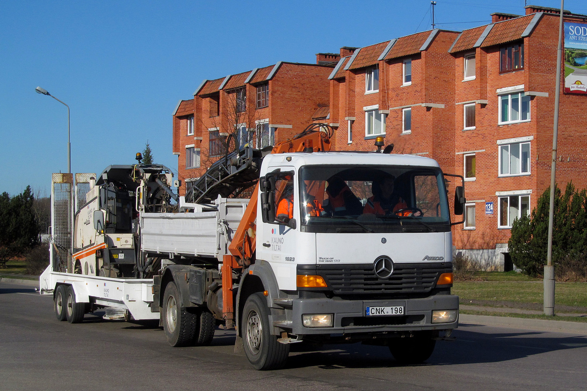
[[[181,307],[181,298],[173,282],[165,288],[161,318],[167,342],[171,346],[193,345],[198,329],[198,315]]]

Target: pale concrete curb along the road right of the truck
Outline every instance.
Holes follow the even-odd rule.
[[[495,327],[524,328],[537,331],[567,332],[587,335],[587,324],[569,321],[551,321],[546,319],[525,319],[510,317],[490,317],[488,315],[458,315],[459,327],[483,325]]]

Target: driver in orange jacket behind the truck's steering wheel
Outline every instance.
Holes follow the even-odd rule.
[[[367,203],[363,208],[363,214],[370,213],[383,216],[392,214],[410,216],[412,214],[411,209],[402,210],[408,209],[408,206],[406,201],[393,191],[395,179],[396,178],[390,174],[377,179],[377,181],[373,181],[373,196],[367,199]],[[414,216],[419,215],[420,212],[414,213]]]

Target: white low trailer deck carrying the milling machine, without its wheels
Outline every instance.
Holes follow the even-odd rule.
[[[50,266],[39,277],[41,294],[52,294],[58,284],[73,287],[77,302],[94,302],[105,307],[128,310],[136,320],[159,319],[151,312],[153,279],[109,278],[59,273]]]

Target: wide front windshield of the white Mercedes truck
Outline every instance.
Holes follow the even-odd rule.
[[[306,232],[450,230],[440,169],[425,166],[305,166],[301,175]]]

